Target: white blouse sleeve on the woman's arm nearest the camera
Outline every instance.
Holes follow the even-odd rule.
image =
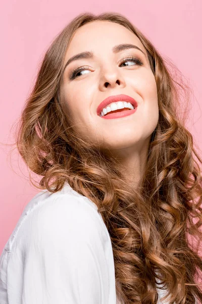
[[[106,304],[105,236],[97,211],[61,195],[23,224],[22,304]]]

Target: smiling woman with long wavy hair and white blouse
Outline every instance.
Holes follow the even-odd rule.
[[[17,133],[42,191],[2,253],[1,303],[202,300],[201,159],[180,89],[120,14],[81,14],[56,37]]]

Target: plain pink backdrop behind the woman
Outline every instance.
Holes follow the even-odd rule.
[[[182,71],[194,92],[187,127],[202,149],[201,134],[201,0],[141,0],[68,2],[10,0],[1,8],[1,119],[0,119],[0,251],[2,252],[24,207],[38,192],[13,142],[17,122],[34,82],[37,65],[55,35],[76,15],[117,12],[136,25],[163,56]],[[11,159],[10,159],[11,155]],[[32,174],[32,176],[34,176]],[[37,176],[36,180],[39,180]]]

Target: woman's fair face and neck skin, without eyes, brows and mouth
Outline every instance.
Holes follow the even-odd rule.
[[[78,132],[86,139],[109,147],[124,166],[126,178],[135,186],[143,172],[149,139],[159,119],[157,86],[147,55],[137,49],[113,53],[112,48],[118,44],[136,45],[146,54],[138,37],[120,24],[93,21],[77,29],[66,52],[64,66],[70,57],[80,52],[92,51],[95,57],[73,61],[65,68],[61,101]],[[138,56],[143,65],[128,59],[120,63],[128,56]],[[81,66],[85,69],[70,80],[70,73]],[[133,97],[138,104],[136,112],[120,119],[97,116],[99,103],[118,94]]]

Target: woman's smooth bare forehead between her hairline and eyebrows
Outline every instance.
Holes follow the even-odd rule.
[[[69,57],[90,50],[104,52],[123,43],[135,44],[145,51],[139,38],[126,27],[110,21],[93,21],[75,31],[66,55]]]

